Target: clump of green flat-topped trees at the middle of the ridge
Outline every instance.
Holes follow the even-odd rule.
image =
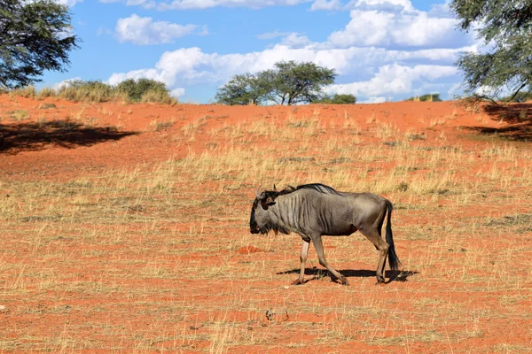
[[[278,62],[270,70],[234,76],[215,99],[221,104],[309,103],[322,97],[323,87],[335,77],[333,69],[314,63]]]

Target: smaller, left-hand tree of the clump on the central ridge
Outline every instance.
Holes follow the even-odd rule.
[[[270,92],[270,82],[264,77],[245,73],[235,75],[223,88],[218,89],[215,100],[220,104],[261,104]]]

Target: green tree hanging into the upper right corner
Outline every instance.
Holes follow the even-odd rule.
[[[497,97],[511,92],[510,101],[520,91],[532,90],[532,1],[530,0],[454,0],[451,9],[460,27],[478,29],[479,38],[491,50],[468,52],[457,65],[465,75],[465,90],[490,90]],[[480,26],[479,26],[480,25]]]

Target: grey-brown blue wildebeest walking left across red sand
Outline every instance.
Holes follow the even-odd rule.
[[[314,244],[319,264],[331,273],[332,280],[348,285],[346,277],[325,260],[323,235],[351,235],[360,230],[379,250],[377,282],[384,282],[386,259],[390,268],[397,270],[399,258],[395,254],[392,235],[392,204],[372,193],[339,192],[324,184],[304,184],[297,188],[255,192],[249,227],[252,234],[268,234],[273,230],[301,235],[301,271],[293,284],[302,284],[310,241]],[[382,224],[387,214],[386,241],[381,237]]]

